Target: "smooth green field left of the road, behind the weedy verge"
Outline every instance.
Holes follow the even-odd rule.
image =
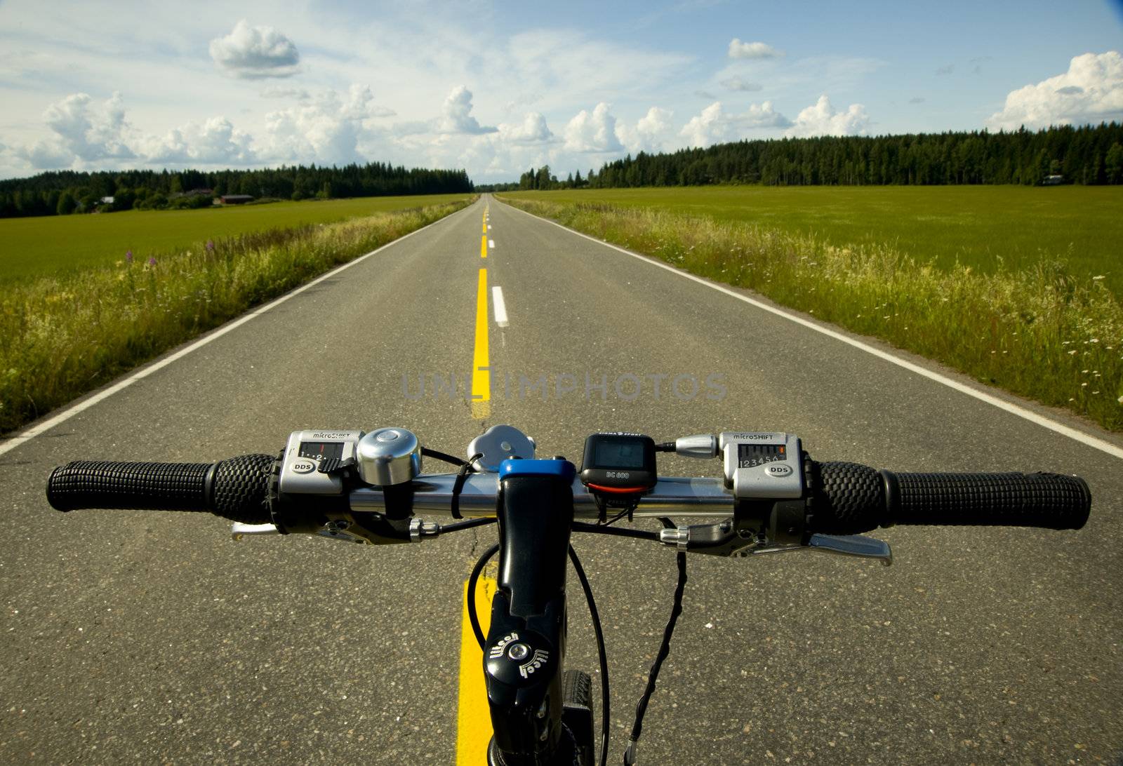
[[[134,257],[179,253],[197,243],[249,231],[332,224],[468,199],[468,194],[364,197],[353,200],[275,202],[204,210],[129,210],[93,216],[0,220],[0,284],[57,276],[75,268]]]

